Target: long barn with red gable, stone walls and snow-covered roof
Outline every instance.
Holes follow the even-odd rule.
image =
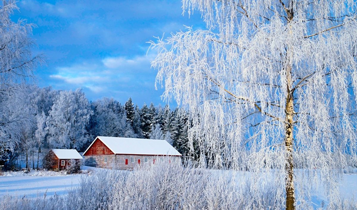
[[[85,165],[133,169],[155,161],[176,161],[181,154],[169,142],[155,139],[97,136],[83,153]]]

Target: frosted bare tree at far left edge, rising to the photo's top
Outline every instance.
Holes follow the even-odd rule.
[[[26,121],[22,114],[16,115],[16,105],[7,104],[15,100],[14,91],[20,90],[20,81],[32,76],[34,68],[43,57],[33,56],[31,48],[34,40],[29,38],[32,25],[19,20],[14,23],[10,15],[18,7],[15,1],[1,1],[0,3],[0,165],[3,165],[9,152],[14,151],[18,144],[19,129]],[[3,106],[7,104],[7,106]],[[20,112],[22,113],[22,112]]]

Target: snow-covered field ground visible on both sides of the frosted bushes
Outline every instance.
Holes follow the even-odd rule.
[[[13,196],[24,196],[27,198],[51,195],[63,195],[72,187],[79,186],[82,176],[92,176],[101,170],[93,167],[82,167],[82,174],[67,175],[65,171],[36,171],[32,170],[25,174],[23,171],[5,172],[0,176],[0,197],[6,194]],[[228,171],[221,171],[225,174]],[[222,175],[223,175],[222,174]],[[242,174],[241,174],[242,175]],[[319,187],[320,188],[320,187]],[[322,201],[327,204],[327,198],[323,196],[323,190],[312,194],[312,206],[314,209],[321,207]],[[340,185],[342,199],[357,200],[357,174],[344,174]]]

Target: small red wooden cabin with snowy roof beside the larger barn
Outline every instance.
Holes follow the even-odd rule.
[[[70,160],[81,161],[83,157],[74,149],[51,149],[46,155],[47,168],[66,169]],[[78,164],[79,165],[79,164]]]

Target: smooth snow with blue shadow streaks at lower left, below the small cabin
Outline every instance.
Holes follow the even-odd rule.
[[[82,175],[70,176],[0,176],[0,196],[27,195],[34,197],[38,193],[47,196],[56,194],[63,195],[71,187],[79,185]]]

